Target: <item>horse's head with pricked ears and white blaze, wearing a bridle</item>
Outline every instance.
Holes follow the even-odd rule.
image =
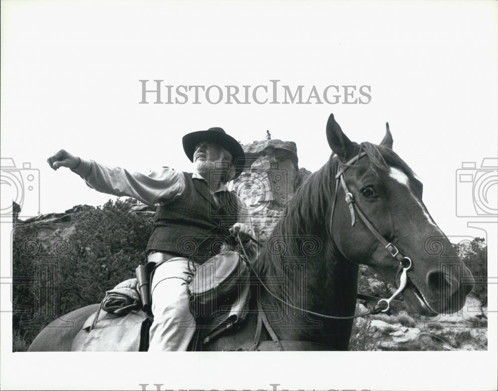
[[[372,266],[391,281],[399,271],[400,260],[408,257],[412,264],[402,295],[414,312],[436,315],[461,309],[472,290],[472,273],[423,204],[422,183],[392,151],[388,127],[379,145],[357,144],[331,115],[327,140],[337,156],[331,159],[339,160],[330,166],[342,169],[344,178],[344,184],[340,176],[336,180],[330,221],[331,234],[341,254],[350,261]],[[347,192],[352,195],[350,205],[345,200]],[[444,250],[438,254],[429,251],[431,241],[437,241]],[[386,249],[387,243],[394,247]]]

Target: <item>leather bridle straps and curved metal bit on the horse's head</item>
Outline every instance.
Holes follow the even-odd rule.
[[[334,209],[336,205],[336,200],[337,200],[337,193],[339,190],[339,183],[344,189],[344,193],[346,194],[346,202],[348,203],[349,211],[351,214],[351,226],[355,225],[355,212],[358,214],[360,219],[363,221],[363,223],[367,226],[367,228],[370,230],[370,232],[373,233],[373,235],[377,238],[377,240],[384,246],[384,248],[389,252],[389,254],[395,258],[396,260],[399,261],[399,266],[398,270],[396,271],[396,283],[398,280],[399,276],[399,286],[398,289],[393,293],[391,297],[388,299],[380,299],[377,302],[377,305],[375,305],[374,310],[375,311],[381,311],[381,312],[387,312],[389,309],[389,303],[391,302],[394,297],[396,297],[406,286],[407,282],[407,277],[406,277],[406,272],[408,269],[411,267],[411,260],[408,257],[403,256],[399,250],[394,246],[392,243],[388,242],[385,240],[385,238],[378,232],[378,230],[373,226],[373,224],[369,221],[369,219],[365,216],[365,214],[362,212],[358,204],[355,202],[355,197],[353,194],[348,190],[348,186],[346,185],[346,180],[345,180],[345,171],[354,166],[358,160],[360,160],[363,156],[365,156],[367,153],[366,152],[361,152],[354,158],[352,158],[350,161],[347,163],[341,163],[339,162],[339,168],[337,171],[337,174],[335,176],[335,194],[334,194],[334,201],[332,203],[332,213],[330,215],[330,235],[332,236],[332,221],[334,219]],[[387,304],[387,307],[384,309],[381,309],[382,306],[380,303],[385,303]]]

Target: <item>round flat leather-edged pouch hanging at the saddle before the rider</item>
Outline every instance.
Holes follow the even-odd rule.
[[[249,280],[249,260],[235,251],[220,253],[197,267],[187,283],[193,309],[228,303]],[[197,311],[193,311],[195,314]]]

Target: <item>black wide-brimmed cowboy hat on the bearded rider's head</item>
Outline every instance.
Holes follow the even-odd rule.
[[[212,141],[228,150],[232,154],[232,164],[235,167],[234,178],[242,173],[246,163],[246,154],[234,137],[228,135],[222,128],[209,128],[185,134],[182,139],[183,150],[190,161],[194,161],[195,146],[201,141]]]

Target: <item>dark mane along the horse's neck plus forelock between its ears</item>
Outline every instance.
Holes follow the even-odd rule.
[[[396,167],[410,178],[411,168],[392,149],[370,142],[355,144],[355,153],[366,152],[372,171],[388,171]],[[326,242],[326,258],[337,260],[341,255],[332,243],[328,228],[330,206],[335,197],[335,175],[339,160],[332,154],[329,160],[312,173],[297,189],[285,206],[282,217],[261,249],[255,269],[260,276],[272,281],[282,276],[282,260],[303,259],[306,254],[318,254]],[[316,247],[320,247],[317,249]],[[278,285],[281,286],[281,285]],[[280,289],[277,289],[280,290]],[[281,291],[279,292],[281,294]]]

